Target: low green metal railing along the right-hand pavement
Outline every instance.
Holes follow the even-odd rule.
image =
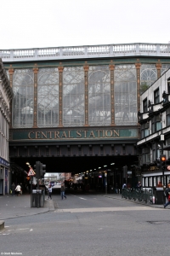
[[[153,204],[153,192],[147,189],[122,189],[122,198]]]

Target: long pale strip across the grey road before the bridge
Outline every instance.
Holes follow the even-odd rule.
[[[99,208],[73,208],[73,209],[57,209],[54,212],[129,212],[129,211],[160,211],[163,208],[150,207],[99,207]]]

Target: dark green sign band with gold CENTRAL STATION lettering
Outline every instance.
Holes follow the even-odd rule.
[[[12,131],[11,139],[16,140],[71,140],[71,139],[111,139],[111,138],[133,138],[138,137],[138,129],[93,129],[93,130],[64,130],[57,129],[54,131]],[[11,140],[10,139],[10,140]]]

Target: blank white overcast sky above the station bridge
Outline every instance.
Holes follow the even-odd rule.
[[[1,0],[0,49],[170,41],[170,0]]]

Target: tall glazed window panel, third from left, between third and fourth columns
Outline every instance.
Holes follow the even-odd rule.
[[[63,71],[63,125],[84,125],[84,70],[65,67]]]

